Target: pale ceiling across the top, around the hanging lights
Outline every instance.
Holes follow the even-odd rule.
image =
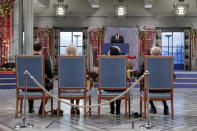
[[[36,16],[54,16],[53,3],[57,0],[34,0]],[[88,0],[64,0],[68,4],[70,16],[112,16],[115,0],[100,0],[100,8],[93,9]],[[173,4],[178,0],[152,0],[152,8],[145,9],[147,0],[128,0],[128,16],[174,16]],[[197,16],[197,0],[185,0],[189,3],[189,16]]]

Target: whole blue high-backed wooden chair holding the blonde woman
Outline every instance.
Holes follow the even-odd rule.
[[[87,57],[86,56],[58,56],[58,97],[60,99],[84,99],[84,106],[89,99],[90,90],[87,89]],[[58,115],[60,101],[58,101]],[[90,111],[91,113],[91,111]],[[84,108],[84,117],[86,108]]]

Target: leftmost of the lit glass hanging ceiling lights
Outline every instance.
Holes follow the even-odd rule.
[[[67,13],[68,5],[64,3],[64,0],[58,0],[53,4],[55,15],[58,17],[63,17]]]

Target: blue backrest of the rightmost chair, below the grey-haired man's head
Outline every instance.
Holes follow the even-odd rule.
[[[146,70],[150,73],[148,76],[149,89],[171,89],[173,87],[173,56],[145,56]]]

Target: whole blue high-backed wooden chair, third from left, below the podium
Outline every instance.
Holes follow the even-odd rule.
[[[102,99],[111,100],[127,89],[126,56],[99,56],[98,70],[98,104]],[[128,93],[120,99],[125,100],[125,116],[127,116]],[[98,107],[98,116],[100,108]]]

